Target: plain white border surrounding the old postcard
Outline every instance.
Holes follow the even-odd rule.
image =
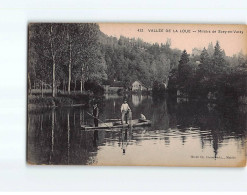
[[[247,24],[246,19],[246,0],[1,1],[0,191],[247,191],[244,168],[49,167],[25,162],[28,22]]]

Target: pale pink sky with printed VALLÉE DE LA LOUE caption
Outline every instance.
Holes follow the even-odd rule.
[[[188,53],[195,47],[207,48],[210,42],[215,45],[218,40],[227,56],[241,50],[247,54],[247,25],[100,23],[99,26],[106,35],[118,38],[122,35],[159,44],[169,38],[171,48],[186,49]]]

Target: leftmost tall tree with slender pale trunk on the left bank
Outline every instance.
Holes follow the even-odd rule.
[[[29,54],[31,66],[37,78],[43,84],[52,86],[52,96],[56,95],[57,63],[63,61],[61,51],[64,36],[58,24],[30,24],[29,25]]]

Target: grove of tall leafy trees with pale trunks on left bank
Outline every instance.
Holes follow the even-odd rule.
[[[71,79],[79,80],[82,85],[89,79],[96,82],[106,79],[106,64],[99,50],[98,35],[97,24],[30,24],[28,66],[31,84],[38,81],[57,88],[66,82],[70,91]]]

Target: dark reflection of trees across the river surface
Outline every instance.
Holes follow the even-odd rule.
[[[104,120],[118,118],[122,98],[106,99],[100,110]],[[28,162],[35,164],[94,164],[100,148],[121,148],[127,154],[130,144],[141,146],[145,140],[162,140],[166,147],[173,143],[185,147],[191,138],[199,140],[202,150],[211,147],[214,157],[229,138],[243,139],[246,127],[244,109],[232,105],[209,105],[194,101],[177,103],[164,98],[144,98],[138,106],[130,102],[133,118],[143,113],[152,121],[147,128],[86,131],[82,125],[93,124],[84,115],[88,108],[53,108],[28,113]],[[115,106],[113,106],[115,105]],[[179,142],[174,142],[179,139]],[[244,147],[244,146],[243,146]]]

